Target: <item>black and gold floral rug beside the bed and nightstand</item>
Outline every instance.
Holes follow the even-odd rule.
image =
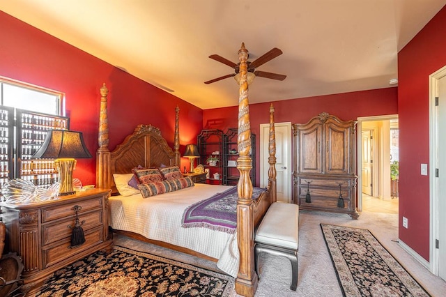
[[[229,296],[233,277],[119,246],[59,271],[36,296]]]

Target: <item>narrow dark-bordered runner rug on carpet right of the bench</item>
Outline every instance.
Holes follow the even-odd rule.
[[[344,296],[429,296],[369,230],[321,228]]]

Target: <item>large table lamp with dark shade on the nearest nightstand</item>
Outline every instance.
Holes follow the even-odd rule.
[[[82,132],[70,130],[49,130],[42,146],[34,153],[34,158],[56,159],[61,189],[59,196],[75,194],[72,188],[72,171],[76,167],[75,158],[91,158],[84,143]]]

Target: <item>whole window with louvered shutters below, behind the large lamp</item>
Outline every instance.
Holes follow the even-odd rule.
[[[0,188],[12,178],[48,188],[57,178],[53,160],[33,160],[47,130],[68,129],[63,93],[0,77]]]

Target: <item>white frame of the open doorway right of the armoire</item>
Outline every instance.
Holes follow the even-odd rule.
[[[357,157],[357,187],[356,187],[356,191],[357,191],[357,211],[362,211],[362,122],[365,121],[390,121],[390,120],[394,120],[394,119],[398,119],[398,114],[388,114],[385,116],[361,116],[357,118],[357,133],[356,133],[356,137],[357,137],[357,153],[356,153],[356,157]],[[376,139],[376,135],[374,135],[374,138]],[[374,154],[377,153],[376,149],[376,140],[374,140]],[[390,154],[390,152],[389,152]],[[374,157],[375,158],[375,157]],[[375,158],[376,159],[376,158]],[[374,160],[374,167],[376,169],[376,160]],[[376,170],[375,170],[376,173]],[[374,177],[374,183],[376,182],[376,178]],[[375,190],[375,194],[374,197],[376,195],[376,191],[377,191],[377,184],[374,185],[374,190]]]

